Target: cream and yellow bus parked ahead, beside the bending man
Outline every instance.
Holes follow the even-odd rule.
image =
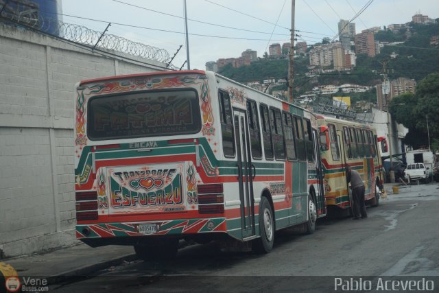
[[[366,202],[377,207],[384,174],[378,143],[385,148],[385,138],[377,137],[375,128],[371,126],[333,117],[318,115],[318,125],[328,209],[339,214],[351,211],[352,197],[346,180],[346,164],[363,178]]]

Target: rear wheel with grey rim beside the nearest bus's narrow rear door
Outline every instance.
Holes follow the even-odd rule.
[[[261,237],[253,243],[256,253],[270,253],[274,243],[274,217],[273,209],[265,196],[261,197],[259,204],[259,233]]]

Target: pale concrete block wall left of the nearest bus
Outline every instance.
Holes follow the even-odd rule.
[[[73,88],[164,66],[130,58],[0,24],[0,258],[75,244]]]

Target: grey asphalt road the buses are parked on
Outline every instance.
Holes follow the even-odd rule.
[[[123,263],[51,290],[334,292],[340,282],[340,292],[342,284],[351,291],[363,284],[368,292],[366,279],[371,289],[377,289],[380,279],[406,279],[424,285],[430,280],[427,286],[433,284],[439,292],[439,184],[399,191],[382,198],[379,207],[368,208],[366,219],[321,220],[312,235],[279,231],[268,255],[224,252],[215,243],[193,245],[171,261]]]

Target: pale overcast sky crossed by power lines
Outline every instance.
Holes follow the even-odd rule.
[[[298,41],[306,40],[308,44],[313,44],[320,42],[325,36],[332,39],[337,34],[338,21],[351,20],[368,2],[369,0],[296,0],[295,29],[302,31],[296,32],[300,35]],[[246,49],[257,51],[261,57],[268,51],[270,44],[282,45],[289,42],[291,8],[291,0],[187,0],[191,69],[205,69],[206,62],[216,61],[218,58],[237,58]],[[171,56],[183,45],[173,64],[180,67],[187,59],[184,0],[62,0],[62,12],[111,22],[113,24],[108,30],[110,34],[166,49]],[[412,21],[412,16],[417,12],[437,19],[439,1],[375,0],[353,22],[359,33],[369,27],[382,28],[392,23]],[[85,25],[100,32],[107,25],[104,22],[70,16],[63,16],[63,19],[65,22]],[[187,65],[184,69],[186,68]]]

